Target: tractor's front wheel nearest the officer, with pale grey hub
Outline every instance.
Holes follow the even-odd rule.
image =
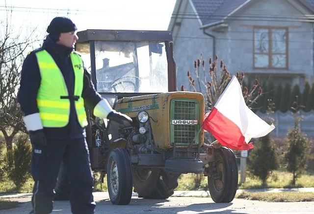
[[[116,205],[126,205],[132,196],[132,172],[128,152],[116,148],[109,154],[107,163],[107,186],[110,201]]]

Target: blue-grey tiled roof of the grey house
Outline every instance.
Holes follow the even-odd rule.
[[[223,23],[256,0],[190,0],[202,27]],[[314,13],[314,0],[296,0]]]

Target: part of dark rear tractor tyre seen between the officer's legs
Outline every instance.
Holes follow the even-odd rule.
[[[65,165],[62,163],[56,185],[54,187],[54,199],[55,201],[67,201],[70,200],[70,182],[68,171]]]

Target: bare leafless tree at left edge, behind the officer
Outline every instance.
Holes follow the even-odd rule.
[[[12,150],[14,136],[26,132],[22,120],[23,113],[17,102],[20,74],[27,49],[34,42],[35,29],[25,32],[25,27],[13,27],[13,8],[5,7],[6,15],[0,19],[0,131],[6,143],[6,149]]]

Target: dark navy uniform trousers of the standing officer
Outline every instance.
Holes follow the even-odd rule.
[[[31,174],[35,181],[32,206],[35,214],[52,212],[54,186],[64,162],[70,179],[70,203],[73,214],[94,214],[93,174],[85,138],[49,140],[46,147],[33,146]]]

